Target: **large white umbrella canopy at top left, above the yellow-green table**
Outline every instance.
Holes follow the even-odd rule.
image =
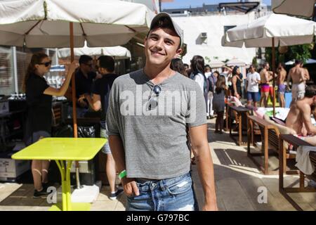
[[[118,46],[147,32],[154,13],[143,4],[118,0],[0,1],[0,44],[29,48]]]

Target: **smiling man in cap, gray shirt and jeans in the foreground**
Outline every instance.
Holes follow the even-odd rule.
[[[126,210],[198,210],[191,146],[203,210],[217,210],[204,96],[196,82],[170,69],[181,44],[183,30],[169,14],[159,13],[145,39],[145,68],[118,77],[110,91],[107,128]]]

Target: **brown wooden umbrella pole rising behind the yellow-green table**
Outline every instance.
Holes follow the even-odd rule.
[[[70,23],[70,60],[74,61],[74,24]],[[76,108],[76,76],[72,76],[72,120],[74,123],[74,138],[78,138],[77,129],[77,108]],[[79,162],[75,161],[77,188],[81,188],[79,179]]]

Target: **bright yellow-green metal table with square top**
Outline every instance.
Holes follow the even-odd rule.
[[[33,143],[12,155],[14,160],[55,160],[62,179],[62,203],[53,205],[51,211],[90,210],[90,203],[72,203],[70,169],[73,161],[91,160],[105,145],[107,139],[46,138]],[[65,163],[64,163],[65,161]]]

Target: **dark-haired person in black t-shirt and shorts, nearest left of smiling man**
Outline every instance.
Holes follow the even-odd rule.
[[[102,78],[96,79],[92,89],[93,110],[102,110],[100,120],[100,137],[105,139],[108,139],[105,115],[109,106],[109,94],[114,79],[119,77],[119,75],[114,73],[114,66],[114,59],[111,56],[100,56],[98,58],[97,68],[100,75],[102,75]],[[110,184],[110,199],[115,200],[117,199],[117,196],[122,193],[123,189],[117,189],[117,191],[115,191],[117,169],[115,167],[115,162],[108,142],[105,143],[102,150],[103,153],[107,155],[105,171],[107,173],[107,180]]]

